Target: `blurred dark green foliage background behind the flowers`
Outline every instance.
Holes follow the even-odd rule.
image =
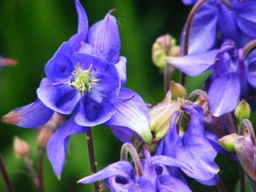
[[[113,12],[121,36],[121,55],[127,57],[127,85],[139,93],[145,102],[156,104],[164,97],[163,77],[151,61],[151,46],[156,37],[170,33],[179,41],[183,24],[191,7],[181,0],[80,0],[88,15],[89,25]],[[0,73],[0,116],[36,99],[36,89],[45,76],[44,65],[57,48],[76,34],[77,12],[73,0],[0,0],[0,55],[18,60],[17,66],[7,66]],[[188,93],[201,88],[205,75],[187,79]],[[175,72],[177,81],[179,73]],[[189,82],[189,83],[188,83]],[[7,172],[17,192],[36,191],[26,166],[13,153],[13,137],[18,135],[31,145],[36,168],[36,131],[0,123],[0,150]],[[94,144],[98,169],[119,160],[121,142],[108,127],[94,127]],[[221,157],[218,157],[221,158]],[[217,160],[219,161],[219,160]],[[233,191],[237,180],[237,164],[220,161],[220,174]],[[228,165],[228,166],[227,166]],[[76,182],[90,174],[85,135],[71,136],[67,162],[61,181],[53,174],[44,158],[46,191],[92,191],[91,185]],[[224,174],[228,171],[228,174]],[[0,177],[0,191],[6,191]],[[193,191],[210,191],[209,187],[193,185]]]

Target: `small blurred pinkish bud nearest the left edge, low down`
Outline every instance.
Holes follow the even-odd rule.
[[[14,137],[14,153],[17,158],[22,158],[23,156],[30,156],[30,145],[18,136]]]

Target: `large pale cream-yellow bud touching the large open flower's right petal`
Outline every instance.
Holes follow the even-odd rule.
[[[171,101],[171,92],[168,91],[164,101],[150,110],[150,129],[155,132],[154,141],[158,141],[166,135],[174,111],[180,111],[183,102],[183,99]]]

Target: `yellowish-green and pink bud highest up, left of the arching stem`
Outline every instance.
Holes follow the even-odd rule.
[[[176,40],[169,34],[158,37],[152,46],[152,61],[160,69],[166,66],[166,56],[178,57],[179,55],[180,47],[176,46]]]

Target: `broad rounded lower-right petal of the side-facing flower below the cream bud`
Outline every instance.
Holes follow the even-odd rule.
[[[176,158],[189,162],[193,172],[181,168],[189,177],[198,180],[210,180],[218,173],[218,165],[214,162],[217,152],[212,145],[199,135],[185,133],[176,145]]]

